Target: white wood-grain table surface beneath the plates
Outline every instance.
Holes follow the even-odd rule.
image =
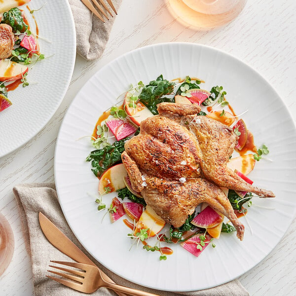
[[[15,235],[12,262],[0,277],[0,295],[33,295],[31,259],[12,188],[21,183],[53,182],[54,148],[61,121],[77,91],[96,71],[119,55],[148,44],[206,44],[234,55],[262,74],[296,120],[295,11],[295,0],[248,0],[232,23],[196,32],[180,25],[163,0],[123,0],[101,59],[87,62],[77,56],[69,90],[49,123],[26,145],[0,158],[0,212],[11,223]],[[295,266],[296,220],[278,246],[239,279],[250,295],[292,296],[296,295]]]

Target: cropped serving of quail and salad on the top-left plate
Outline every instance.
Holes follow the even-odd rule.
[[[44,59],[39,52],[36,10],[26,6],[36,23],[34,34],[25,11],[17,7],[28,2],[30,0],[0,1],[0,95],[4,96],[2,102],[6,102],[0,111],[12,105],[7,99],[8,91],[19,85],[28,86],[29,67],[32,69],[37,61]]]

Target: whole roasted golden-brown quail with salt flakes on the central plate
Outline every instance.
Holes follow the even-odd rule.
[[[121,155],[133,189],[174,227],[206,202],[232,222],[242,240],[244,225],[220,186],[261,197],[275,195],[227,168],[238,137],[219,121],[198,116],[197,104],[161,103],[157,110],[159,115],[141,122],[139,135],[125,143]]]

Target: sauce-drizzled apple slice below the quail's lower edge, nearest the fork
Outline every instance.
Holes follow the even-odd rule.
[[[150,207],[146,206],[145,211],[142,213],[139,222],[137,222],[137,227],[134,231],[135,234],[139,232],[140,229],[147,229],[148,236],[155,236],[165,225],[165,221],[159,217],[155,211]]]

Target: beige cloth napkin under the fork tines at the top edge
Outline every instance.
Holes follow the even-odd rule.
[[[102,15],[105,19],[105,23],[103,23],[81,0],[69,0],[69,3],[76,29],[77,52],[89,61],[96,60],[103,54],[106,47],[114,23],[115,13],[110,7],[113,17],[109,15],[108,21]],[[112,3],[118,12],[121,0],[112,0]],[[106,6],[109,8],[109,4],[106,4]]]

